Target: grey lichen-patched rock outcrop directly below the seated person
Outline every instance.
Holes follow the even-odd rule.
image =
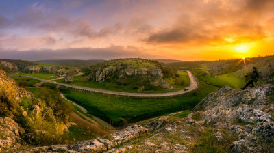
[[[203,119],[207,123],[216,122],[270,122],[273,117],[261,109],[267,106],[267,96],[274,94],[273,85],[259,84],[245,91],[223,87],[202,100],[195,109],[206,110]]]

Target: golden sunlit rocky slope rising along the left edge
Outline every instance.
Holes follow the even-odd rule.
[[[32,105],[26,107],[26,104],[21,103],[22,98],[33,100]],[[29,144],[35,145],[39,135],[47,134],[46,131],[36,129],[25,132],[26,129],[16,123],[16,120],[19,119],[23,119],[28,124],[36,124],[36,121],[41,122],[42,118],[42,120],[58,126],[60,133],[68,130],[68,126],[55,117],[51,107],[47,107],[42,100],[34,99],[31,92],[18,87],[16,81],[7,77],[1,70],[0,107],[0,115],[4,116],[0,117],[0,152],[10,152],[10,150],[17,150],[21,146]]]

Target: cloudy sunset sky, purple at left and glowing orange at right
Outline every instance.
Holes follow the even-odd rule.
[[[0,0],[0,59],[274,54],[273,0]]]

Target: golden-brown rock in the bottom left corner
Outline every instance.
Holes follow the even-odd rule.
[[[20,137],[23,133],[25,130],[10,117],[0,117],[0,152],[27,145]]]

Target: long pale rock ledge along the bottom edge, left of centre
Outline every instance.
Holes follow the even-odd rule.
[[[23,152],[105,152],[116,145],[136,139],[142,135],[147,135],[149,130],[143,126],[128,126],[119,132],[111,133],[112,140],[99,137],[87,141],[64,145],[51,145],[45,147],[32,148]]]

